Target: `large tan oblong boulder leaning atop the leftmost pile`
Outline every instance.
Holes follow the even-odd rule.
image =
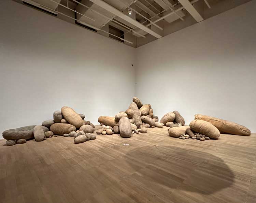
[[[73,108],[68,106],[63,106],[61,108],[62,116],[68,121],[71,125],[75,126],[76,128],[80,128],[84,125],[84,121],[79,114],[77,114]]]

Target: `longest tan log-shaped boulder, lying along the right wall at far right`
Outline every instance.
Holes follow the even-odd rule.
[[[222,133],[233,134],[233,135],[251,135],[251,131],[245,126],[239,125],[235,122],[223,120],[211,116],[205,116],[201,114],[195,115],[196,120],[204,120],[210,122]]]

